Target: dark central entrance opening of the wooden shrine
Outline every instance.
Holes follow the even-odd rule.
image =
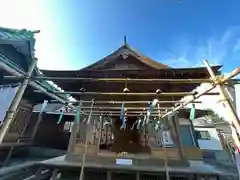
[[[126,129],[121,129],[122,122],[120,119],[114,121],[113,152],[146,153],[150,151],[150,148],[142,141],[144,134],[134,125],[136,121],[137,117],[128,117]]]

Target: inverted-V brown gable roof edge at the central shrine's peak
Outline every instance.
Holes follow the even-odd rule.
[[[101,60],[99,60],[99,61],[81,69],[81,70],[90,70],[90,69],[92,70],[92,69],[95,69],[95,67],[98,67],[99,65],[104,65],[104,64],[107,64],[109,62],[115,61],[118,56],[129,56],[129,55],[135,57],[137,60],[139,60],[139,62],[141,62],[141,63],[145,64],[146,66],[149,66],[153,69],[167,69],[167,68],[170,68],[169,66],[167,66],[165,64],[159,63],[157,61],[152,60],[149,57],[146,57],[146,56],[142,55],[137,50],[130,47],[128,44],[124,44],[119,49],[114,51],[112,54],[104,57],[103,59],[101,59]]]

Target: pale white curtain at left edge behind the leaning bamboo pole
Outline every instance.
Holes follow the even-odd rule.
[[[0,86],[0,123],[4,120],[6,112],[16,95],[19,86]]]

